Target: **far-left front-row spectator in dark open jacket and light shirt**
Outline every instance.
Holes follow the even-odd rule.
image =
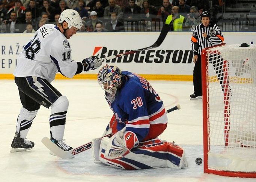
[[[3,23],[6,25],[5,33],[22,33],[21,21],[17,19],[17,13],[11,12],[10,19],[4,20]]]

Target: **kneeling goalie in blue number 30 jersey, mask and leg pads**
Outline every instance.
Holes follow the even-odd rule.
[[[93,161],[119,169],[187,168],[184,149],[158,136],[167,127],[160,96],[143,77],[105,65],[98,83],[114,112],[104,135],[92,141]]]

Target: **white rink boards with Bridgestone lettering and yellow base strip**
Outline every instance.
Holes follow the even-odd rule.
[[[77,33],[68,41],[72,48],[72,60],[82,61],[92,55],[105,58],[151,46],[159,35],[160,32]],[[182,77],[191,78],[194,68],[191,35],[192,32],[169,32],[163,43],[155,49],[111,59],[103,64],[114,64],[121,70],[153,77],[178,75],[181,80],[184,80]],[[256,43],[256,33],[223,32],[223,35],[227,44]],[[31,36],[33,34],[0,34],[0,78],[5,79],[6,75],[12,77],[16,58]],[[84,72],[81,78],[97,72]]]

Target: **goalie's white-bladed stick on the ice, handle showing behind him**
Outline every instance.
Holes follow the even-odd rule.
[[[166,111],[166,113],[175,111],[177,109],[180,109],[180,105],[177,104],[175,107],[170,108]],[[103,137],[111,137],[111,134],[102,136]],[[50,150],[52,151],[55,155],[57,155],[60,158],[66,159],[66,158],[71,158],[73,155],[77,155],[83,151],[86,151],[87,149],[92,148],[92,142],[88,142],[87,144],[78,146],[77,148],[71,149],[69,151],[64,151],[59,146],[55,145],[48,137],[42,138],[42,143]]]

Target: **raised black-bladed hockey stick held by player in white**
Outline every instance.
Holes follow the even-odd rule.
[[[149,46],[149,47],[145,47],[145,48],[142,48],[142,49],[137,49],[137,50],[131,50],[129,52],[125,52],[125,53],[121,53],[121,54],[117,54],[117,55],[113,55],[113,56],[108,56],[106,58],[101,58],[99,59],[98,61],[99,62],[103,62],[103,61],[107,61],[107,60],[110,60],[110,59],[114,59],[114,58],[118,58],[118,57],[122,57],[122,56],[125,56],[125,55],[129,55],[129,54],[134,54],[134,53],[137,53],[137,52],[141,52],[143,50],[149,50],[149,49],[153,49],[153,48],[156,48],[158,46],[161,45],[161,43],[164,41],[164,38],[166,37],[167,33],[169,32],[170,30],[170,25],[169,24],[164,24],[162,30],[161,30],[161,33],[157,39],[157,41],[152,45],[152,46]]]

